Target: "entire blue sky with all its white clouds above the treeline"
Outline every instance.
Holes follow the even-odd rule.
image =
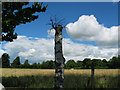
[[[16,27],[18,38],[3,42],[0,55],[20,56],[23,63],[54,60],[54,33],[50,17],[64,18],[63,53],[66,60],[100,58],[109,60],[118,54],[118,3],[44,2],[47,11],[31,23]],[[31,5],[31,3],[30,3]],[[28,11],[29,12],[29,11]],[[38,14],[38,13],[36,13]]]

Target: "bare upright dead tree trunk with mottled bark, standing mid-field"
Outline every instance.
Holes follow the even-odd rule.
[[[63,88],[64,81],[64,62],[62,53],[62,29],[61,25],[55,28],[55,88]]]

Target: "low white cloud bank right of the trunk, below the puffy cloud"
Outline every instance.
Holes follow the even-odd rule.
[[[83,60],[84,58],[106,58],[118,54],[117,48],[103,48],[85,44],[74,43],[70,39],[65,39],[63,43],[65,57],[75,60]]]

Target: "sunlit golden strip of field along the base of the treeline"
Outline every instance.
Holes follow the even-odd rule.
[[[1,70],[2,77],[9,77],[9,76],[30,76],[30,75],[54,75],[55,70],[53,69],[10,69],[10,68],[3,68]],[[118,75],[119,69],[97,69],[95,70],[96,76],[116,76]],[[65,75],[81,75],[81,74],[91,74],[90,69],[66,69],[64,70]]]

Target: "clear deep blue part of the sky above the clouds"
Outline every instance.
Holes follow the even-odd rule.
[[[75,22],[81,15],[95,15],[100,24],[104,24],[106,27],[118,25],[118,6],[113,2],[49,2],[47,11],[41,13],[39,18],[31,23],[17,26],[15,29],[19,35],[25,35],[29,37],[41,37],[47,38],[47,30],[51,26],[46,25],[49,22],[50,17],[54,15],[65,18],[64,25]],[[64,30],[65,38],[69,37]]]

